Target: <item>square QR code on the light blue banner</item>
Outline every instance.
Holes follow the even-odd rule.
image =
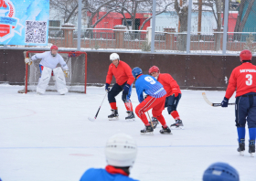
[[[26,21],[25,43],[47,43],[47,22]]]

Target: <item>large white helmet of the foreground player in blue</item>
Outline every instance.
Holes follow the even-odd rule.
[[[108,140],[105,154],[108,165],[132,166],[137,154],[137,145],[132,136],[117,133]]]

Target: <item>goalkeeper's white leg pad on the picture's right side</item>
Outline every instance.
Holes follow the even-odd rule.
[[[68,89],[66,87],[66,80],[65,80],[63,70],[61,68],[55,68],[53,69],[53,73],[56,79],[56,88],[59,94],[67,93]]]

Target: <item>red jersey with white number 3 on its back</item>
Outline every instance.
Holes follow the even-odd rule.
[[[229,99],[237,89],[236,97],[256,92],[256,66],[251,62],[242,63],[233,69],[225,97]]]

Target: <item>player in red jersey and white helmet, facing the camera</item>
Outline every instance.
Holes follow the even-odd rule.
[[[125,120],[134,120],[135,116],[133,113],[133,105],[130,100],[133,88],[133,78],[132,69],[130,66],[121,61],[117,53],[112,53],[110,56],[112,64],[109,66],[109,71],[106,79],[105,90],[108,91],[108,99],[112,107],[112,114],[108,116],[109,120],[118,119],[118,111],[116,107],[115,96],[117,96],[121,91],[123,91],[122,100],[125,104],[128,116]],[[112,76],[114,76],[116,83],[109,89],[112,82]]]

